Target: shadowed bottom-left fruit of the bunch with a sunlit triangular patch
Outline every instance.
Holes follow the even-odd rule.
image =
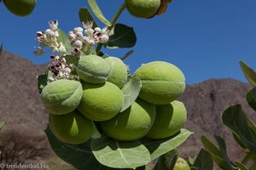
[[[66,115],[49,114],[49,126],[55,137],[67,144],[82,144],[90,139],[93,130],[92,122],[79,111]]]

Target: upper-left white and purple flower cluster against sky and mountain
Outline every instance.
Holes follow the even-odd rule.
[[[57,51],[59,54],[64,55],[67,53],[66,48],[63,46],[61,42],[57,42],[57,38],[59,37],[58,32],[58,21],[50,20],[49,21],[49,29],[45,31],[37,31],[36,40],[40,43],[40,47],[36,48],[34,54],[40,55],[44,54],[44,47],[53,48],[53,51]]]

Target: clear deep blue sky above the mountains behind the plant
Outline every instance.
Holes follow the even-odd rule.
[[[111,20],[123,1],[97,2]],[[73,30],[80,26],[78,11],[85,6],[86,0],[38,0],[33,13],[20,18],[1,3],[0,42],[14,54],[36,64],[46,63],[49,55],[32,54],[38,46],[35,32],[47,29],[49,20],[59,20],[59,27],[66,32]],[[255,7],[255,0],[173,0],[166,14],[153,20],[137,19],[125,10],[118,23],[134,27],[137,33],[135,53],[125,63],[133,72],[143,63],[165,60],[177,65],[189,84],[227,77],[246,82],[238,62],[242,59],[256,68]],[[129,50],[103,49],[117,57]]]

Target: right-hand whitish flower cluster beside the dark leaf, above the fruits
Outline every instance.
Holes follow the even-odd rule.
[[[93,48],[96,43],[108,42],[108,27],[103,29],[96,27],[92,28],[93,21],[83,23],[83,27],[76,27],[73,31],[69,31],[68,39],[71,41],[73,46],[73,55],[79,54],[80,51],[86,51],[87,49]]]

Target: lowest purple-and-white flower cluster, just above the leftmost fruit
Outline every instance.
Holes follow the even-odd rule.
[[[71,68],[67,66],[66,59],[58,55],[50,56],[48,70],[53,73],[53,75],[48,79],[49,82],[54,82],[55,80],[63,78],[71,78]]]

